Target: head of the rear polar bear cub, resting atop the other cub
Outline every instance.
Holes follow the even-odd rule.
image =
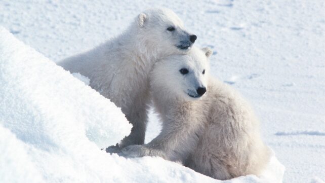
[[[196,35],[186,31],[181,19],[170,9],[146,10],[136,21],[139,39],[157,52],[167,55],[187,52],[196,40]]]

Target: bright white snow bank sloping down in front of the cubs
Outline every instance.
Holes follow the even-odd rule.
[[[282,181],[275,157],[261,178],[220,181],[161,158],[101,151],[130,133],[120,109],[2,27],[0,86],[0,182]]]

